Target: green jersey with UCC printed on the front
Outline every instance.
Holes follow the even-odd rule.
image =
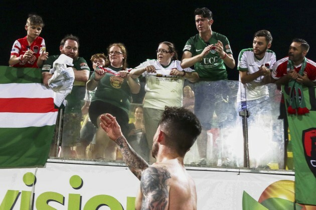
[[[208,41],[209,44],[214,45],[217,41],[221,41],[223,43],[224,51],[227,54],[232,54],[228,39],[224,35],[212,32],[212,37]],[[194,57],[201,54],[206,46],[206,42],[202,40],[199,34],[197,34],[187,41],[183,52],[189,51],[191,52],[192,57]],[[227,80],[227,71],[224,61],[215,50],[211,50],[210,53],[202,59],[202,61],[195,63],[194,68],[199,74],[199,77],[202,79],[209,81]]]

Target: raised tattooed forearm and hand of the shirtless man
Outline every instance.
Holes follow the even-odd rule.
[[[118,145],[126,165],[140,180],[142,171],[148,168],[148,163],[128,144],[115,117],[110,114],[105,114],[101,115],[100,120],[100,125],[108,137]]]

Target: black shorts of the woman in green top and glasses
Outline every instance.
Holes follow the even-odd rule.
[[[90,104],[89,107],[89,116],[91,119],[91,122],[99,127],[97,125],[97,118],[101,114],[109,113],[113,115],[116,118],[116,121],[118,122],[119,126],[121,127],[122,133],[124,136],[127,136],[128,132],[128,114],[121,108],[114,106],[110,103],[105,103],[103,101],[93,101]]]

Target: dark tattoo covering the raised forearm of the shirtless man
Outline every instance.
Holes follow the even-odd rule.
[[[131,172],[140,179],[141,172],[148,167],[148,163],[143,160],[134,150],[127,144],[124,136],[116,139],[116,144],[119,146],[123,159],[131,170]]]

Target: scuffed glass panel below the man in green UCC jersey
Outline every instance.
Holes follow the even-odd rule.
[[[242,139],[238,143],[235,131],[237,81],[214,81],[189,84],[191,98],[184,97],[184,106],[198,116],[203,127],[201,135],[185,157],[185,163],[203,167],[239,167]],[[189,89],[186,87],[186,89]],[[194,108],[192,98],[195,97]],[[235,145],[236,144],[236,145]],[[242,147],[241,147],[242,149]]]

